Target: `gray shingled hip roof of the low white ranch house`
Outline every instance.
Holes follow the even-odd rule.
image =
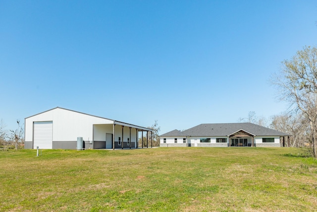
[[[200,124],[183,132],[173,130],[161,136],[229,136],[240,130],[255,136],[290,136],[286,133],[252,123]],[[179,133],[182,133],[183,135]]]

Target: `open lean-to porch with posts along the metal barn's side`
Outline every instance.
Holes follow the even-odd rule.
[[[138,148],[138,140],[143,134],[151,134],[152,130],[136,125],[114,121],[113,124],[94,124],[93,139],[85,141],[85,148],[91,149],[123,149]],[[141,138],[142,138],[141,137]],[[147,136],[148,138],[148,136]],[[142,145],[143,146],[143,145]],[[152,145],[151,145],[152,147]]]

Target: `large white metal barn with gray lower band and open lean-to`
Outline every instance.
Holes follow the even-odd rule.
[[[137,148],[139,132],[152,130],[60,107],[25,118],[25,148]],[[148,137],[147,137],[148,138]]]

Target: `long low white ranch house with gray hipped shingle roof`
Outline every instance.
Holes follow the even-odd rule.
[[[290,135],[252,123],[201,124],[185,131],[160,135],[160,146],[258,146],[285,145]]]

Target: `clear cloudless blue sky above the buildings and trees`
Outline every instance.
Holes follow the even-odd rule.
[[[160,133],[287,110],[268,80],[316,0],[0,0],[0,119],[63,107]]]

